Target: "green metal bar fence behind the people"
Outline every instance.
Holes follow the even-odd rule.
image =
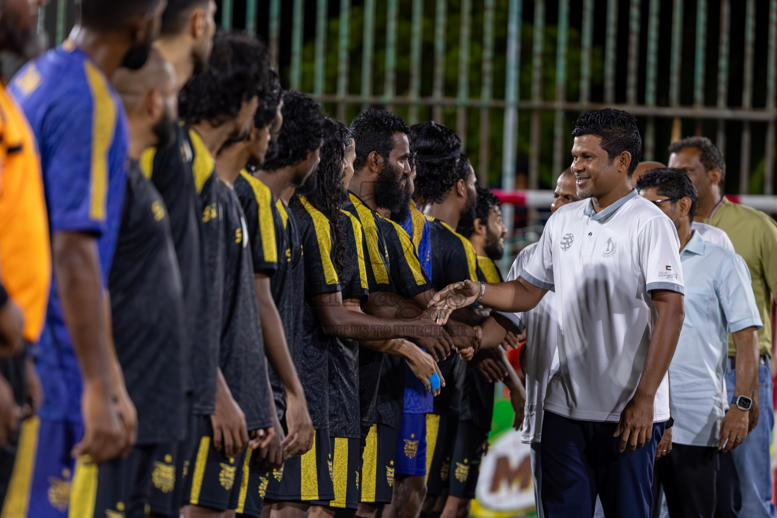
[[[455,127],[480,182],[549,186],[577,114],[636,115],[646,159],[706,134],[730,192],[774,193],[777,0],[221,0],[219,23],[266,38],[291,89],[350,120],[387,106]],[[75,23],[54,0],[53,43]]]

